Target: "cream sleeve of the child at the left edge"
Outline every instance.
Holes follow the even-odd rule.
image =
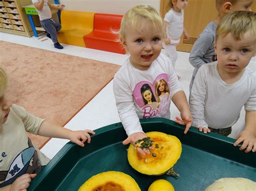
[[[15,114],[21,118],[26,132],[30,132],[34,135],[37,135],[41,124],[44,119],[36,117],[29,112],[27,112],[23,107],[19,107],[16,104],[12,104],[12,110],[14,110]]]

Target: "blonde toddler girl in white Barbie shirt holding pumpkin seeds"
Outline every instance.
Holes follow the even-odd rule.
[[[123,144],[134,143],[147,137],[139,118],[164,117],[170,119],[171,100],[180,111],[181,119],[176,122],[186,125],[184,133],[192,124],[186,95],[180,86],[171,60],[160,54],[163,39],[163,20],[156,9],[148,5],[137,5],[127,11],[121,22],[120,41],[130,57],[114,75],[113,90],[120,120],[128,138]],[[145,105],[141,88],[147,84],[149,100],[156,94],[156,82],[164,79],[170,96],[160,101],[159,107]],[[156,95],[154,95],[156,97]],[[160,99],[159,99],[160,100]],[[151,100],[152,102],[152,100]],[[152,148],[153,149],[153,148]],[[142,154],[150,154],[137,147]]]

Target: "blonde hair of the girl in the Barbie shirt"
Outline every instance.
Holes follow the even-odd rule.
[[[133,6],[129,11],[127,11],[122,19],[120,27],[120,42],[124,45],[126,30],[127,27],[132,29],[138,29],[138,26],[142,24],[142,20],[145,19],[148,23],[151,23],[152,26],[159,27],[164,35],[164,24],[163,19],[160,17],[156,9],[152,8],[149,5],[136,5]]]

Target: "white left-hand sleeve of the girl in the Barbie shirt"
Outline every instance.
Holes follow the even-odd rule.
[[[114,76],[113,91],[118,114],[127,136],[132,133],[143,132],[134,106],[132,90],[121,75]]]

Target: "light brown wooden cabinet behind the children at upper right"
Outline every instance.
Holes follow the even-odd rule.
[[[167,4],[170,0],[161,0],[160,14],[164,18],[167,12]],[[256,11],[256,3],[254,2],[252,10]],[[177,46],[178,51],[190,52],[194,42],[199,34],[205,29],[206,25],[217,17],[215,8],[215,0],[189,0],[184,10],[184,27],[190,34],[190,40],[186,40],[181,36],[180,44]]]

